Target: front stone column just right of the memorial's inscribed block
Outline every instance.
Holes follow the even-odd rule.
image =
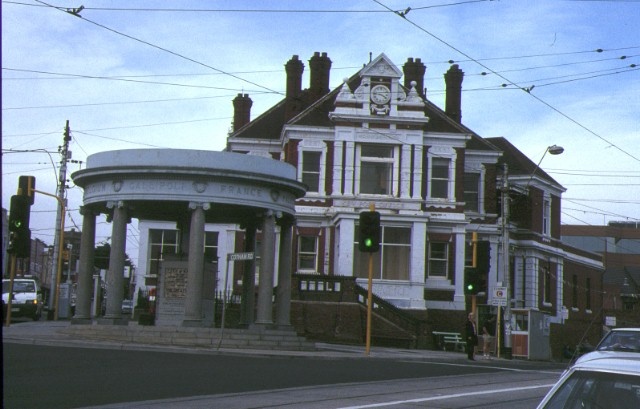
[[[204,225],[205,210],[209,203],[189,203],[191,227],[189,229],[189,261],[187,272],[187,296],[184,301],[183,326],[202,325],[202,280],[204,274]]]

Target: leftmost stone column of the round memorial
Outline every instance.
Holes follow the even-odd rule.
[[[80,237],[80,262],[76,312],[73,324],[91,323],[91,293],[93,291],[94,254],[96,247],[96,214],[86,206],[80,207],[82,236]]]

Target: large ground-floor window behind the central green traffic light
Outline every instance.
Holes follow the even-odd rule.
[[[380,251],[358,251],[357,227],[354,240],[354,271],[357,277],[368,278],[369,254],[373,254],[373,278],[383,280],[409,280],[411,256],[411,229],[408,227],[381,226]]]

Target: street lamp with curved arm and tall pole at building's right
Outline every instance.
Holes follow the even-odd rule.
[[[533,180],[533,176],[536,171],[540,167],[542,160],[546,156],[547,152],[552,155],[560,155],[564,152],[564,148],[558,145],[551,145],[545,149],[542,158],[538,161],[535,169],[531,172],[531,177],[527,182],[525,188],[529,187],[531,181]],[[504,164],[503,174],[502,174],[502,271],[503,271],[503,285],[507,289],[507,303],[504,307],[504,347],[505,354],[510,357],[511,356],[511,266],[509,260],[509,178],[508,178],[508,167],[507,164]]]

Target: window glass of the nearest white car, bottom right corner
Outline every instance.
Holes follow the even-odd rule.
[[[545,409],[638,409],[640,376],[615,372],[575,371]]]

